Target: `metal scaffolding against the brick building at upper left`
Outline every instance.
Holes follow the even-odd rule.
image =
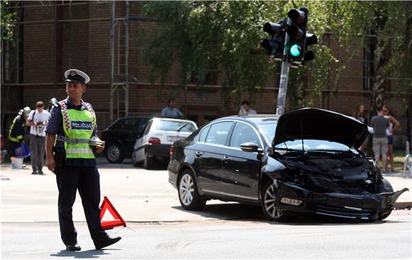
[[[38,4],[28,4],[29,2],[24,1],[15,1],[9,9],[18,12],[18,20],[16,21],[16,40],[20,37],[18,35],[18,31],[21,26],[25,25],[39,25],[39,24],[54,24],[55,32],[56,26],[58,24],[63,23],[88,23],[88,22],[98,22],[98,21],[108,21],[110,22],[110,80],[109,82],[94,82],[92,84],[109,84],[110,91],[109,91],[109,122],[113,122],[114,119],[119,118],[121,116],[129,115],[129,86],[130,84],[137,84],[138,81],[134,75],[129,73],[129,23],[130,21],[146,21],[146,18],[141,18],[137,16],[130,16],[130,4],[129,0],[126,1],[94,1],[93,4],[110,4],[110,16],[102,17],[102,18],[59,18],[58,16],[58,8],[63,6],[85,6],[89,5],[90,2],[77,2],[77,1],[38,1]],[[116,4],[124,4],[124,6],[117,7]],[[44,20],[36,20],[36,21],[23,21],[22,14],[24,9],[28,8],[44,8],[44,7],[53,7],[54,9],[54,19],[44,19]],[[116,16],[117,13],[120,13],[119,16]],[[54,35],[56,40],[56,35]],[[17,42],[17,41],[16,41]],[[2,50],[3,45],[2,45]],[[57,47],[54,45],[53,50],[54,56],[57,57]],[[13,53],[13,61],[18,60],[18,55],[21,55],[21,51],[19,50],[19,45],[16,45],[16,48]],[[2,52],[2,55],[3,52]],[[18,62],[17,62],[18,63]],[[71,62],[70,62],[71,63]],[[61,84],[58,82],[58,74],[55,74],[54,82],[36,82],[36,83],[27,83],[23,82],[21,79],[20,74],[16,74],[16,77],[13,77],[13,81],[11,81],[12,73],[18,72],[23,64],[14,64],[15,66],[11,66],[9,69],[10,81],[7,82],[5,85],[7,86],[3,93],[3,95],[8,95],[11,86],[55,86],[55,89],[58,89],[58,86]],[[16,67],[16,69],[13,69]],[[53,71],[56,71],[56,64],[54,63]],[[1,121],[4,122],[4,115],[6,114],[6,108],[8,105],[8,98],[5,98],[4,104],[1,104],[2,108],[2,116]],[[14,113],[9,111],[9,113]],[[105,124],[106,125],[106,124]]]

